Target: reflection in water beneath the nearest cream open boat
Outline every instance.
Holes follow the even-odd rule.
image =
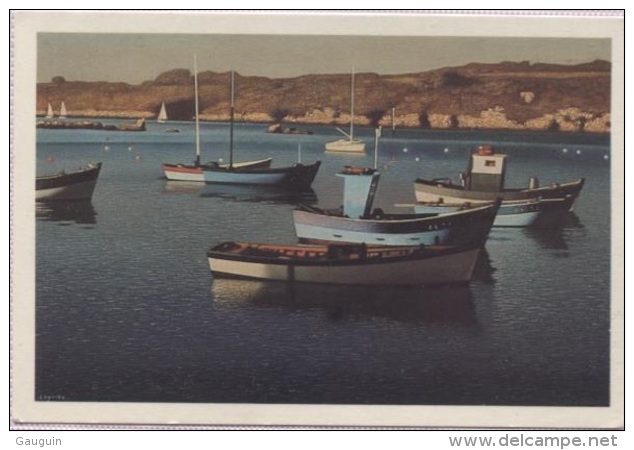
[[[223,309],[276,308],[319,312],[327,320],[387,319],[397,322],[476,327],[468,286],[388,287],[214,279],[214,304]]]

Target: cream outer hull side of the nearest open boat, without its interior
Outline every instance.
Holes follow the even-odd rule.
[[[391,261],[302,262],[249,259],[210,250],[209,267],[214,277],[237,277],[287,282],[350,285],[434,285],[468,283],[478,259],[479,248],[434,251]]]

